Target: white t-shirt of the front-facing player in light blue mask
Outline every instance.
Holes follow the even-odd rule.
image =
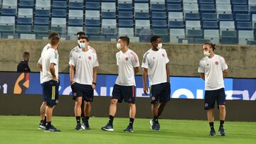
[[[89,48],[86,52],[78,49],[73,51],[69,65],[75,67],[75,82],[79,84],[92,84],[93,67],[98,67],[99,62],[94,49]]]

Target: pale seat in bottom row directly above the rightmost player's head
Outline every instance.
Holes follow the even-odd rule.
[[[220,43],[219,30],[204,30],[203,38],[206,40],[210,40],[211,43],[218,44]]]

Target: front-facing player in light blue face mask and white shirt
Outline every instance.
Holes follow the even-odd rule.
[[[80,36],[80,49],[73,52],[73,57],[69,62],[70,65],[70,84],[75,100],[75,118],[77,126],[75,130],[90,130],[89,118],[91,112],[91,102],[93,92],[96,87],[97,67],[99,62],[94,49],[89,46],[89,39]],[[81,109],[84,101],[85,109]],[[80,123],[81,111],[85,112],[85,120]]]

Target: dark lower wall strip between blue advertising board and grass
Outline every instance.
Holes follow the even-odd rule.
[[[42,104],[41,95],[8,94],[0,96],[0,115],[39,115]],[[92,103],[91,116],[107,117],[110,97],[95,96]],[[151,118],[149,98],[137,98],[137,118]],[[256,121],[256,101],[226,101],[227,121]],[[215,106],[215,121],[219,119],[219,111]],[[55,107],[54,116],[74,116],[74,101],[72,96],[60,96],[60,103]],[[117,105],[117,117],[128,118],[127,103]],[[206,120],[202,99],[171,99],[166,104],[160,118]],[[39,116],[38,116],[39,119]],[[106,118],[107,121],[107,118]]]

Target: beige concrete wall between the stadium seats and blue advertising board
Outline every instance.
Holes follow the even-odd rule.
[[[16,65],[22,59],[22,53],[31,53],[29,66],[33,72],[38,72],[36,63],[41,50],[48,40],[0,40],[0,71],[16,71]],[[90,42],[97,50],[101,74],[117,74],[114,42]],[[60,72],[68,72],[70,50],[77,45],[76,41],[63,40],[60,43]],[[131,43],[129,47],[137,53],[142,62],[144,52],[149,50],[150,43]],[[164,44],[170,62],[171,76],[198,76],[198,62],[203,57],[202,45],[192,44]],[[229,66],[228,77],[256,77],[256,47],[240,45],[217,45],[215,53],[225,57]],[[142,74],[140,72],[139,74]]]

